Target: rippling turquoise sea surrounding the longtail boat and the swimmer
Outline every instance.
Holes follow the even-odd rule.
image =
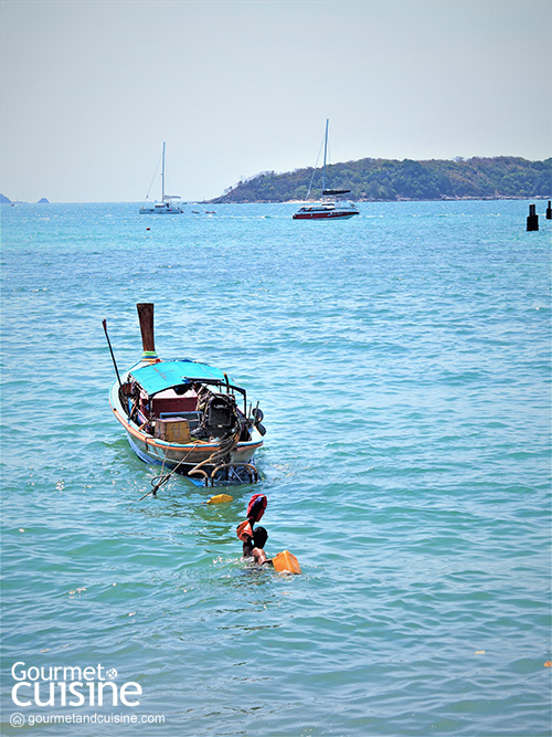
[[[2,206],[2,735],[548,737],[551,235],[529,201]],[[256,484],[130,450],[162,358],[259,402]],[[232,502],[208,504],[213,494]],[[266,551],[236,525],[267,497]]]

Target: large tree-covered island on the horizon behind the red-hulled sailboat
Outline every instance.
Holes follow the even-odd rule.
[[[209,201],[219,204],[306,200],[312,172],[312,167],[286,173],[263,171]],[[349,197],[359,202],[551,198],[552,158],[360,159],[328,166],[326,181],[332,189],[350,189]],[[320,188],[321,169],[315,173],[310,199],[321,196]]]

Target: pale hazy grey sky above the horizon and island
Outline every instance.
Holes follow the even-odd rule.
[[[330,159],[552,154],[550,0],[1,0],[1,191],[208,199]],[[160,196],[160,177],[151,197]]]

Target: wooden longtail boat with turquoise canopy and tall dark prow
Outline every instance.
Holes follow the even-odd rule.
[[[153,340],[153,305],[139,304],[144,354],[119,375],[109,392],[112,410],[130,448],[147,463],[214,482],[257,481],[254,454],[263,445],[263,412],[221,369],[190,359],[163,360]]]

